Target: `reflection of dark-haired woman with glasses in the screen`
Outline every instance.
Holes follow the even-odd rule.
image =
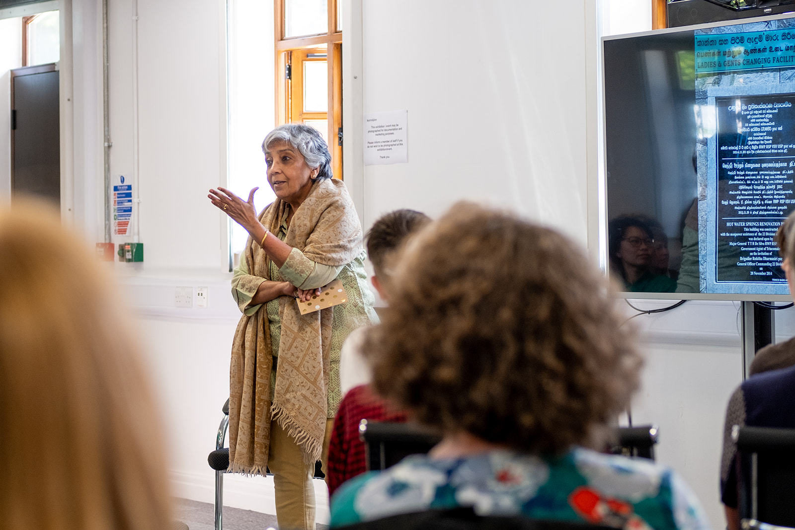
[[[676,280],[653,273],[650,268],[654,238],[646,222],[622,215],[610,222],[608,232],[611,269],[623,280],[626,291],[676,291]]]

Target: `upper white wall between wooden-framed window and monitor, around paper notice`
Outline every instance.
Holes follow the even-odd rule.
[[[365,168],[365,225],[472,199],[585,242],[584,2],[561,15],[549,2],[363,2],[364,112],[409,111],[409,163]]]

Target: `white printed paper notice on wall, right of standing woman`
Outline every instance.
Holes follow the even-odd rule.
[[[408,110],[364,116],[364,164],[405,164],[409,161]]]

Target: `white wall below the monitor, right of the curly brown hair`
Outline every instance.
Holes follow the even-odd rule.
[[[632,303],[651,309],[670,302]],[[631,407],[633,423],[660,428],[657,461],[684,477],[712,528],[724,524],[718,495],[723,417],[743,374],[738,315],[737,303],[691,301],[633,320],[642,330],[646,358],[642,388]]]

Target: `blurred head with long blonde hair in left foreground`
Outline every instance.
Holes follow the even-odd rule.
[[[48,207],[0,208],[3,528],[171,524],[161,424],[94,261]]]

